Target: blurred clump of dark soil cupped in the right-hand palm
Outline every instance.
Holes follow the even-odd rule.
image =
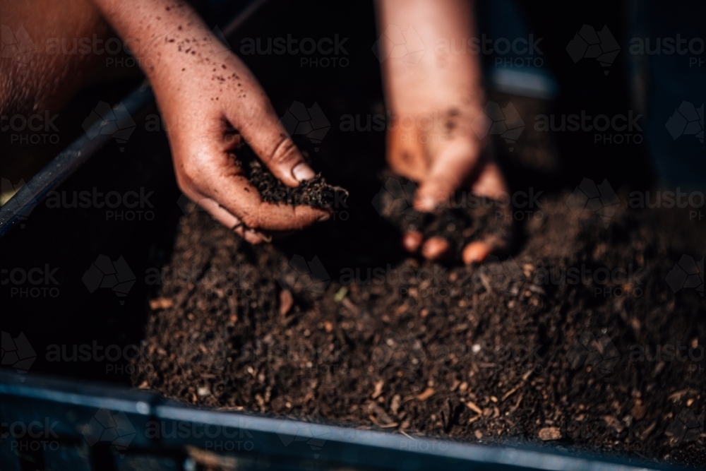
[[[512,237],[508,203],[459,192],[433,213],[421,213],[413,206],[417,192],[413,181],[388,172],[383,179],[383,188],[373,200],[378,213],[402,232],[421,232],[424,239],[443,237],[450,244],[455,259],[460,259],[463,248],[474,240]]]

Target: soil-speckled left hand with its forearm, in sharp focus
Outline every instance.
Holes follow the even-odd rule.
[[[325,220],[325,210],[264,203],[234,150],[244,138],[287,186],[314,173],[247,66],[182,1],[95,0],[131,41],[160,107],[181,190],[253,244]]]

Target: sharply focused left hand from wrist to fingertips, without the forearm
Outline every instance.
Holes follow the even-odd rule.
[[[186,56],[179,70],[154,82],[182,191],[253,244],[269,240],[268,232],[328,219],[325,211],[306,205],[263,203],[245,177],[234,155],[241,136],[287,186],[314,172],[248,68],[230,52],[216,54],[216,44],[191,42],[202,58]]]

